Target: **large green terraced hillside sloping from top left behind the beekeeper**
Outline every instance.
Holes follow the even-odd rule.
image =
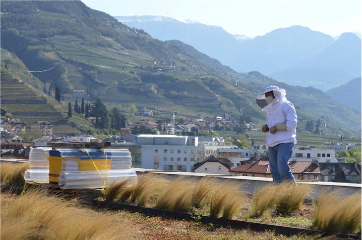
[[[254,96],[270,84],[282,85],[261,74],[229,71],[194,48],[153,39],[80,1],[2,1],[1,11],[1,48],[31,71],[52,68],[33,75],[51,88],[61,86],[71,101],[73,90],[90,88],[87,100],[100,97],[122,109],[132,103],[140,109],[157,107],[158,117],[172,111],[185,117],[245,114],[261,125],[265,115]],[[283,86],[294,91],[290,96],[301,120],[324,117],[334,126],[328,131],[335,133],[361,124],[358,114],[320,91]],[[326,102],[338,114],[330,114]]]

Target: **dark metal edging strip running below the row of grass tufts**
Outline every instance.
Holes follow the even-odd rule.
[[[109,208],[112,210],[129,210],[133,212],[142,212],[152,216],[162,216],[162,217],[173,217],[178,219],[184,220],[196,220],[196,216],[191,213],[186,212],[177,212],[177,211],[170,211],[164,209],[157,209],[157,208],[149,208],[149,207],[141,207],[141,206],[134,206],[134,205],[127,205],[122,203],[116,202],[106,202],[100,200],[92,200],[92,203],[96,207],[100,208]],[[202,223],[212,223],[222,226],[229,226],[232,228],[247,228],[254,231],[274,231],[278,234],[283,235],[314,235],[314,236],[334,236],[338,238],[347,238],[347,239],[360,239],[360,235],[354,234],[343,234],[343,233],[333,233],[327,231],[320,231],[320,230],[313,230],[313,229],[303,229],[303,228],[296,228],[296,227],[288,227],[288,226],[280,226],[280,225],[273,225],[267,223],[257,223],[257,222],[249,222],[249,221],[241,221],[235,219],[227,219],[227,218],[218,218],[218,217],[210,217],[204,215],[197,215],[197,220]]]

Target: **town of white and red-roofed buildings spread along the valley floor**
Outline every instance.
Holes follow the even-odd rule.
[[[142,109],[138,121],[126,121],[121,135],[97,139],[92,135],[53,134],[52,124],[37,121],[29,126],[17,119],[1,118],[1,157],[28,157],[30,147],[48,142],[110,142],[112,147],[128,148],[132,167],[159,171],[181,171],[227,176],[271,178],[267,146],[261,130],[251,122],[225,116],[194,118],[177,122],[154,122],[152,110]],[[91,117],[90,117],[91,118]],[[242,129],[233,137],[222,137],[219,130]],[[161,130],[161,131],[160,131]],[[38,139],[27,142],[19,135],[31,132]],[[146,133],[146,134],[144,134]],[[216,136],[217,135],[217,136]],[[361,183],[361,144],[348,142],[297,144],[289,160],[297,181]]]

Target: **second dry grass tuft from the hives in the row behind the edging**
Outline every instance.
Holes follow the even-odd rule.
[[[152,196],[156,196],[165,180],[158,174],[147,173],[137,177],[137,183],[132,187],[132,201],[138,206],[146,206]],[[130,189],[128,189],[130,191]]]

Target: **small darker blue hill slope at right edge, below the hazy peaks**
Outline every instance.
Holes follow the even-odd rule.
[[[326,92],[328,96],[361,113],[361,78]]]

